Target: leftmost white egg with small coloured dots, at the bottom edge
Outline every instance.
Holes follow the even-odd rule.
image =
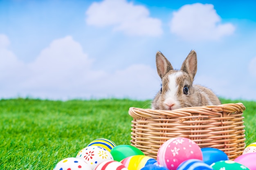
[[[53,170],[92,170],[92,168],[79,158],[66,158],[59,161]]]

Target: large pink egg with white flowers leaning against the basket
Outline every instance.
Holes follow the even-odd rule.
[[[202,151],[194,141],[185,137],[169,139],[157,152],[158,164],[169,170],[176,170],[180,163],[188,159],[202,160]]]

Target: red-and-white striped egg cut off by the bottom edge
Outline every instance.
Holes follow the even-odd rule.
[[[104,161],[101,162],[94,170],[128,170],[119,161]]]

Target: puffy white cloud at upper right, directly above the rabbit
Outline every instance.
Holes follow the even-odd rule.
[[[231,23],[221,23],[220,16],[212,4],[186,4],[173,12],[171,32],[184,40],[218,40],[235,31]]]

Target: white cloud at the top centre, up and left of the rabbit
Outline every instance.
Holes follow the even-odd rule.
[[[126,0],[93,2],[86,11],[86,22],[93,26],[114,26],[114,31],[128,35],[158,36],[162,34],[162,22],[149,17],[149,11],[141,5]]]

